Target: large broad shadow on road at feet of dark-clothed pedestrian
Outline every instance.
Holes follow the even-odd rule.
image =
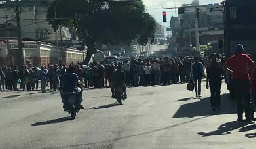
[[[187,100],[182,99],[182,100]],[[195,116],[234,114],[237,113],[236,102],[229,98],[229,94],[221,95],[221,111],[212,112],[210,97],[202,98],[200,101],[187,103],[180,106],[172,118],[193,118]]]

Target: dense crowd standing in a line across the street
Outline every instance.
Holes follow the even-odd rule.
[[[223,58],[221,56],[221,58]],[[198,59],[205,68],[208,60]],[[191,78],[191,66],[194,57],[185,58],[159,57],[153,59],[138,59],[124,61],[123,63],[104,64],[104,61],[83,65],[70,64],[75,66],[75,73],[83,83],[84,88],[109,87],[113,80],[114,70],[121,65],[125,72],[126,86],[144,86],[144,85],[169,85],[178,82],[187,82]],[[23,65],[17,68],[0,66],[0,90],[17,91],[17,84],[20,83],[20,89],[26,91],[38,90],[38,84],[41,80],[41,90],[45,92],[45,86],[50,90],[56,91],[62,88],[61,82],[66,73],[67,66],[62,64],[41,66]],[[45,84],[45,85],[44,85]]]

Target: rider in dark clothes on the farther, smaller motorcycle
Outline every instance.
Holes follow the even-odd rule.
[[[126,75],[125,72],[122,71],[122,66],[117,66],[117,71],[114,73],[114,83],[115,83],[115,87],[118,85],[121,85],[123,87],[123,92],[124,92],[124,96],[125,98],[127,98],[126,95],[126,86],[125,86],[125,81],[126,81]]]

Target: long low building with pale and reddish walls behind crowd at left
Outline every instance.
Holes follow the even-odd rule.
[[[73,47],[62,47],[62,50],[56,45],[43,41],[23,41],[24,64],[31,63],[36,66],[47,66],[47,64],[69,65],[72,62],[83,62],[86,57],[86,51],[80,51]],[[64,54],[62,54],[64,52]],[[10,40],[10,50],[6,40],[0,41],[0,65],[10,66],[19,64],[20,52],[18,51],[18,41]],[[62,59],[63,56],[63,59]]]

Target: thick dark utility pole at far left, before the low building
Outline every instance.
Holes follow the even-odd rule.
[[[17,36],[18,36],[18,52],[19,52],[19,66],[24,63],[24,55],[22,50],[22,37],[21,37],[21,25],[20,25],[20,9],[19,1],[16,0],[16,23],[17,23]]]

